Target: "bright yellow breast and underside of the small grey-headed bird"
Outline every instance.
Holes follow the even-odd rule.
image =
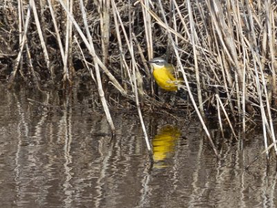
[[[156,83],[161,87],[162,89],[165,89],[167,91],[177,91],[178,87],[176,86],[177,79],[166,69],[166,67],[162,67],[160,69],[154,69],[153,76],[156,81]]]

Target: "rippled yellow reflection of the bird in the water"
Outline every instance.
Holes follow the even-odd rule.
[[[163,125],[158,130],[157,135],[152,139],[154,167],[168,166],[165,160],[174,155],[176,141],[180,135],[180,130],[172,125]]]

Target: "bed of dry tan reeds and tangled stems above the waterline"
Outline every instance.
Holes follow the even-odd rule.
[[[268,144],[277,153],[276,1],[1,1],[0,78],[8,87],[24,80],[66,89],[88,74],[112,132],[107,97],[120,94],[120,106],[135,103],[146,141],[141,109],[195,112],[217,154],[205,125],[206,114],[217,114],[234,135],[260,119],[267,157]],[[155,90],[146,61],[158,56],[184,79],[181,107]]]

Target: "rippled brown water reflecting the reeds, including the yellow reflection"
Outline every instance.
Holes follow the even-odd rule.
[[[46,93],[0,85],[0,207],[275,207],[275,162],[267,175],[262,130],[238,141],[196,119],[143,114],[151,166],[136,110],[109,99],[109,125],[90,87]]]

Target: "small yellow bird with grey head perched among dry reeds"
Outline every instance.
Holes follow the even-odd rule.
[[[148,61],[153,67],[153,77],[157,85],[166,91],[177,92],[178,79],[174,75],[174,67],[163,58],[153,58]]]

